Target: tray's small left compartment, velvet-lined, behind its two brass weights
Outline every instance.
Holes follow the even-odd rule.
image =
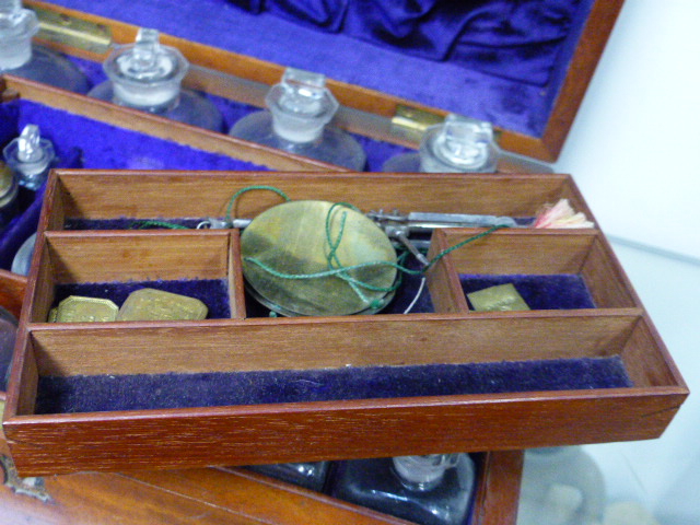
[[[120,307],[143,288],[198,299],[209,319],[244,315],[237,231],[49,234],[38,246],[42,292],[30,311],[34,323],[45,323],[49,310],[71,295],[106,299]]]

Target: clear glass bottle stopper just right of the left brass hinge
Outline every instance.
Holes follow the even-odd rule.
[[[161,46],[158,30],[140,28],[132,45],[120,46],[104,63],[114,102],[140,109],[177,104],[189,62],[179,50]]]

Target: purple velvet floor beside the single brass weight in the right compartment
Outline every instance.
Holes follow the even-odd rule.
[[[513,283],[530,310],[595,308],[586,283],[578,275],[551,276],[459,276],[464,293]],[[471,305],[469,305],[471,307]]]

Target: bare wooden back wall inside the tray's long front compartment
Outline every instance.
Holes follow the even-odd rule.
[[[639,315],[622,310],[68,323],[33,325],[30,334],[42,375],[240,372],[615,355]]]

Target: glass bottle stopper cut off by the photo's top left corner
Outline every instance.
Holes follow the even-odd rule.
[[[38,31],[36,13],[22,9],[21,0],[0,0],[0,71],[32,59],[32,37]]]

